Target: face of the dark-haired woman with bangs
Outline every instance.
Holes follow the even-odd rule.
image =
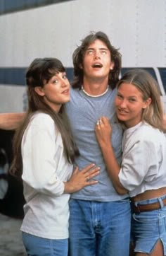
[[[70,100],[70,83],[65,72],[59,72],[52,76],[49,82],[40,88],[40,93],[39,90],[37,93],[44,97],[47,105],[58,112],[61,105]]]

